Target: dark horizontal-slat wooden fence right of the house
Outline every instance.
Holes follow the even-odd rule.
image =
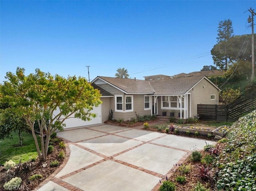
[[[198,104],[197,114],[201,120],[235,121],[256,109],[256,93],[251,93],[227,105]]]

